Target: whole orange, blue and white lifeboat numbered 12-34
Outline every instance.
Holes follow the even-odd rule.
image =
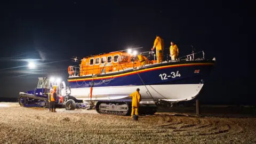
[[[68,67],[70,96],[84,101],[131,101],[129,95],[140,89],[140,103],[179,102],[194,99],[201,91],[215,60],[194,58],[193,53],[177,61],[157,63],[147,56],[117,51],[81,59],[79,67]],[[149,54],[148,54],[149,53]],[[184,58],[184,59],[182,59]],[[127,102],[126,102],[127,103]],[[106,108],[106,102],[102,105]],[[120,104],[119,104],[120,105]],[[127,106],[124,106],[127,107]],[[99,108],[98,108],[99,109]]]

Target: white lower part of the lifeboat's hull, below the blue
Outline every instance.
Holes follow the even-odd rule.
[[[147,93],[147,89],[152,95]],[[183,101],[191,100],[202,89],[203,84],[166,84],[166,85],[138,85],[138,86],[109,86],[94,87],[92,99],[90,98],[89,88],[72,89],[73,95],[78,100],[117,100],[130,99],[129,94],[137,88],[140,89],[142,100],[166,100]],[[87,95],[84,95],[87,93]]]

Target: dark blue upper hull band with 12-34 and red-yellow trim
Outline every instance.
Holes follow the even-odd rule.
[[[190,63],[189,65],[177,65],[171,66],[158,66],[142,70],[134,70],[123,74],[112,74],[107,77],[78,77],[70,78],[69,86],[71,89],[91,87],[92,81],[93,87],[106,87],[106,86],[127,86],[127,85],[143,85],[141,79],[145,85],[165,85],[165,84],[199,84],[202,79],[209,76],[213,68],[213,63],[207,65],[195,65]],[[121,75],[121,76],[120,76]],[[141,78],[140,78],[141,77]],[[82,79],[84,78],[84,79]]]

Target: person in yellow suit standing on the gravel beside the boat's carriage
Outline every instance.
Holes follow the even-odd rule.
[[[135,115],[138,115],[139,103],[141,101],[140,89],[137,89],[135,92],[133,92],[129,96],[132,97],[132,114],[131,114],[131,116],[134,115],[134,111],[135,111]]]

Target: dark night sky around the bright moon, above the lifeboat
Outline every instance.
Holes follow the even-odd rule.
[[[249,45],[255,26],[253,5],[247,1],[1,1],[0,97],[18,97],[20,91],[35,89],[37,77],[66,80],[73,56],[127,47],[150,51],[160,35],[165,47],[171,41],[178,45],[179,57],[190,54],[193,45],[207,58],[216,58],[201,95],[205,101],[253,103],[255,93],[249,94],[247,88],[248,48],[255,48]],[[28,59],[36,60],[36,71],[26,67]]]

